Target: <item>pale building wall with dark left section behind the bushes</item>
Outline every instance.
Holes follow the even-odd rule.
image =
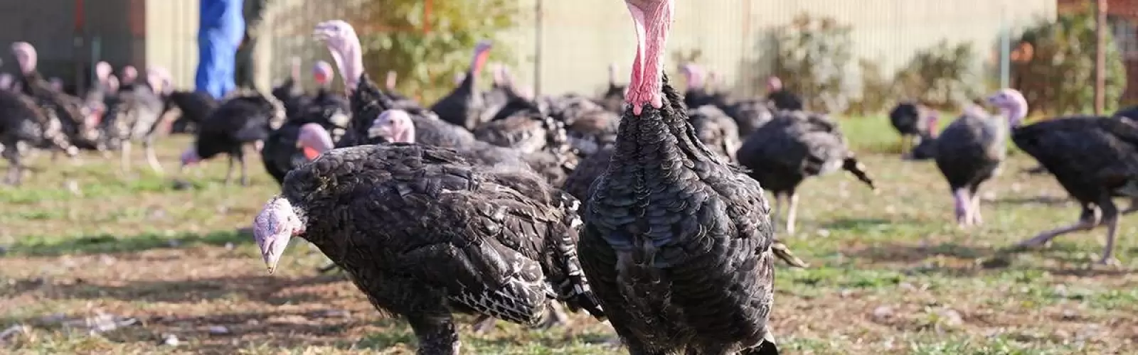
[[[96,1],[98,7],[92,6]],[[328,60],[327,51],[312,41],[311,28],[343,16],[347,1],[360,0],[274,1],[265,19],[271,33],[258,44],[258,84],[267,86],[286,75],[291,56],[305,63]],[[539,15],[523,11],[520,26],[504,35],[517,51],[513,73],[520,82],[541,77],[536,89],[542,93],[594,92],[610,63],[621,68],[630,63],[632,26],[619,1],[518,1],[523,9],[535,9],[542,1]],[[765,56],[773,48],[769,32],[799,14],[851,25],[855,55],[891,71],[941,40],[972,42],[984,53],[999,42],[1005,25],[1014,28],[1053,19],[1057,10],[1056,0],[703,0],[676,6],[669,48],[699,51],[701,64],[743,92],[759,91],[754,79],[770,71]],[[196,27],[197,0],[39,0],[18,6],[0,1],[0,44],[16,40],[36,44],[42,71],[68,81],[90,77],[88,63],[97,57],[116,67],[162,65],[176,84],[191,85]]]

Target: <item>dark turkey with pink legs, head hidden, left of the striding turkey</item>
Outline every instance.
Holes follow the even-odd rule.
[[[1007,156],[1007,132],[999,118],[980,106],[968,106],[941,130],[934,145],[937,168],[948,181],[959,226],[983,223],[980,184],[999,173]]]

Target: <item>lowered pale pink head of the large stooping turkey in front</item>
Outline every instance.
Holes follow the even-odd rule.
[[[303,234],[304,230],[305,225],[297,209],[282,196],[269,200],[253,218],[253,239],[257,241],[270,274],[277,271],[277,264],[288,248],[288,242],[292,237]]]

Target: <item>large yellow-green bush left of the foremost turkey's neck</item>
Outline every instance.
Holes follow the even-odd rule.
[[[365,0],[349,11],[357,30],[389,30],[360,33],[364,66],[373,81],[380,83],[388,71],[395,71],[398,91],[430,105],[454,89],[454,75],[467,71],[478,41],[494,40],[490,61],[513,64],[513,51],[498,34],[517,25],[517,1],[429,2],[430,16],[424,16],[427,2],[421,0]],[[488,72],[481,76],[488,79]]]

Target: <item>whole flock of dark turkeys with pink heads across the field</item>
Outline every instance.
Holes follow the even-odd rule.
[[[775,238],[772,216],[793,233],[798,185],[844,170],[876,191],[838,124],[803,110],[772,80],[766,100],[710,89],[685,65],[684,92],[663,74],[674,0],[627,0],[637,51],[627,86],[609,69],[600,98],[534,98],[501,66],[493,89],[475,88],[492,43],[479,43],[454,91],[430,107],[380,90],[364,73],[360,40],[343,20],[319,24],[346,88],[329,86],[318,63],[314,94],[299,85],[300,63],[271,96],[225,100],[173,90],[160,68],[139,81],[132,67],[83,97],[35,69],[35,49],[16,43],[23,75],[0,77],[0,145],[8,180],[19,183],[30,149],[119,150],[141,141],[151,168],[160,118],[181,110],[174,130],[196,140],[185,167],[218,154],[225,181],[254,145],[281,193],[264,205],[254,236],[273,272],[290,239],[316,246],[379,309],[403,316],[420,354],[457,354],[453,312],[554,324],[558,304],[608,319],[632,354],[777,354],[767,320],[774,259],[805,267]],[[982,222],[978,189],[997,174],[1012,141],[1056,176],[1082,206],[1058,234],[1108,228],[1103,263],[1121,214],[1113,197],[1138,200],[1138,109],[1112,117],[1065,117],[1021,126],[1026,101],[1005,89],[988,98],[1007,125],[979,106],[937,134],[937,114],[905,102],[890,118],[907,156],[935,159],[962,225]],[[234,164],[236,163],[236,164]],[[774,193],[774,212],[764,193]],[[1096,220],[1095,209],[1100,210]]]

